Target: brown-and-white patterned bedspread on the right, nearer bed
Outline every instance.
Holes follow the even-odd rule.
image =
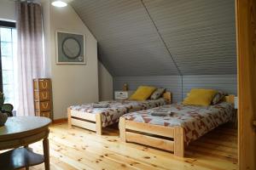
[[[125,120],[145,122],[154,125],[184,128],[185,144],[200,138],[213,128],[229,122],[234,113],[234,106],[227,102],[210,106],[182,105],[181,103],[160,106],[170,113],[167,116],[152,116],[158,108],[137,111],[124,115]]]

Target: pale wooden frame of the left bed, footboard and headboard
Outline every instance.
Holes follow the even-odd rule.
[[[170,104],[172,102],[171,92],[166,92],[163,94],[163,98],[166,99],[166,103]],[[95,131],[96,134],[102,135],[102,115],[101,114],[91,114],[82,111],[72,111],[67,108],[67,122],[68,127],[77,126]]]

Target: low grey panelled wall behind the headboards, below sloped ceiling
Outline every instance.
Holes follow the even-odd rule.
[[[189,75],[156,77],[114,77],[113,90],[120,90],[124,83],[131,90],[141,85],[166,88],[172,92],[172,101],[182,101],[191,88],[213,88],[228,94],[237,94],[236,75]]]

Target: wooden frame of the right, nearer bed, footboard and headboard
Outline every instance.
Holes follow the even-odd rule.
[[[225,101],[234,104],[235,95],[226,96]],[[143,122],[133,122],[119,118],[120,138],[123,142],[133,142],[174,152],[184,156],[183,127],[164,127]]]

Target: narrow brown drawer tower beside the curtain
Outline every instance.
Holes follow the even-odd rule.
[[[34,107],[36,116],[52,119],[52,94],[49,78],[36,78],[33,80]]]

